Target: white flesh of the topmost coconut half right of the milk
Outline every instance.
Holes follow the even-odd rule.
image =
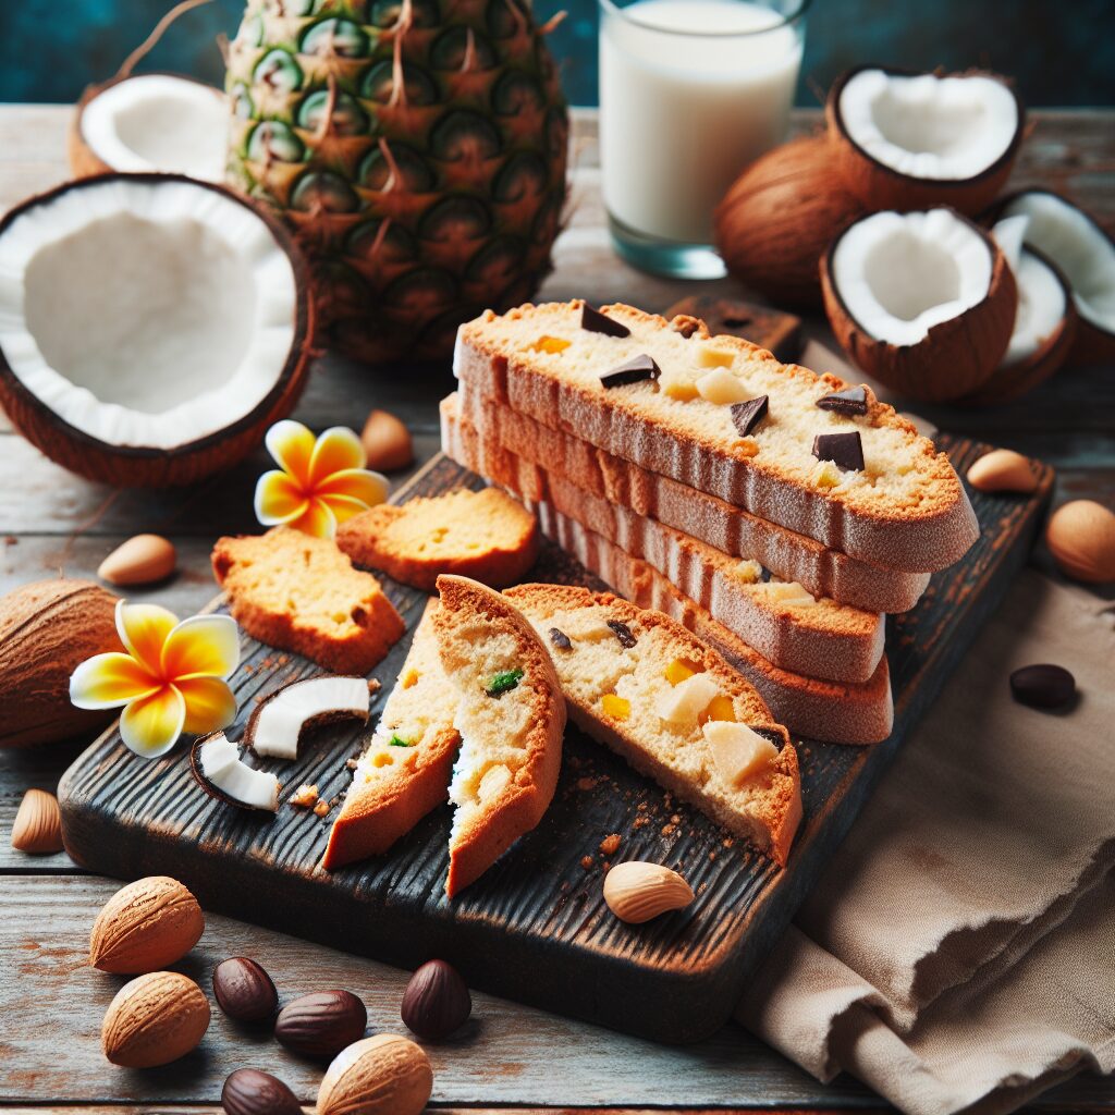
[[[996,163],[1018,130],[1018,103],[988,77],[861,70],[841,90],[849,138],[912,178],[964,182]]]

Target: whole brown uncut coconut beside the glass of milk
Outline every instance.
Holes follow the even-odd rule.
[[[716,210],[716,246],[728,270],[774,302],[821,304],[820,262],[866,206],[833,173],[824,135],[767,152]]]

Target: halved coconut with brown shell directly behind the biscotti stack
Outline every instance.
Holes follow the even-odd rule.
[[[909,398],[970,395],[1007,351],[1018,299],[1010,266],[952,210],[862,217],[830,245],[821,281],[844,350]]]

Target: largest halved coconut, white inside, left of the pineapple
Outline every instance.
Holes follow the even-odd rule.
[[[306,380],[292,236],[180,175],[83,178],[0,221],[0,404],[48,457],[124,486],[245,456]]]

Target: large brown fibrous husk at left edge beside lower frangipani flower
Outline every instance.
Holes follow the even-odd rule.
[[[116,597],[98,584],[56,578],[0,598],[0,747],[103,728],[116,710],[75,708],[69,678],[87,658],[123,649]]]

